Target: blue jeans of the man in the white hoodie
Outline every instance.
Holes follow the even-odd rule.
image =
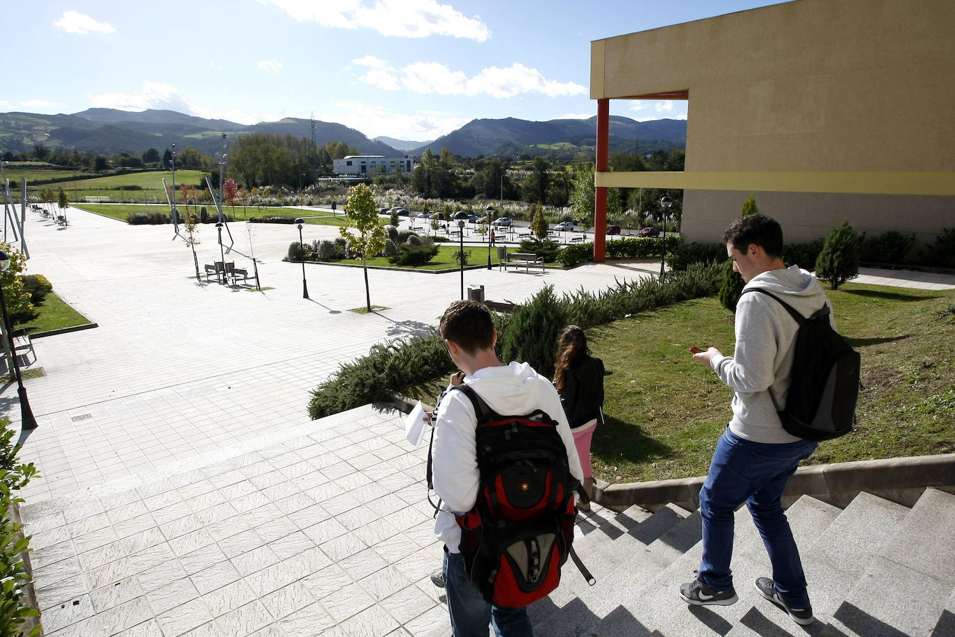
[[[445,551],[443,570],[454,637],[487,637],[488,622],[492,622],[498,637],[534,635],[526,608],[501,608],[484,601],[480,591],[468,582],[460,553]]]

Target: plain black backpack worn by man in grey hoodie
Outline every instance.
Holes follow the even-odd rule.
[[[806,440],[828,440],[852,431],[860,356],[832,329],[829,306],[823,303],[806,318],[772,292],[758,287],[743,291],[773,297],[799,324],[792,382],[786,406],[779,412],[783,429]]]

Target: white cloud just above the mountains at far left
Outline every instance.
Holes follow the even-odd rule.
[[[87,97],[96,108],[113,108],[118,111],[167,109],[206,119],[228,119],[240,124],[255,124],[284,117],[275,112],[248,112],[235,107],[218,109],[197,104],[183,96],[178,89],[160,82],[143,82],[140,93],[103,93]]]

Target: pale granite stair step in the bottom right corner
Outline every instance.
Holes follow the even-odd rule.
[[[838,605],[833,626],[858,635],[945,634],[932,631],[949,621],[953,537],[955,495],[926,489]]]

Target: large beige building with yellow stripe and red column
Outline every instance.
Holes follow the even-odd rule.
[[[787,241],[955,227],[952,0],[794,0],[590,51],[597,227],[608,186],[683,189],[683,236],[704,243],[750,193]],[[689,100],[685,172],[608,172],[610,99]]]

